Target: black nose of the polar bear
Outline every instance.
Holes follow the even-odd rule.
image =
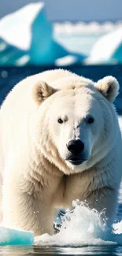
[[[84,144],[80,139],[72,139],[67,145],[68,151],[72,154],[79,154],[84,149]]]

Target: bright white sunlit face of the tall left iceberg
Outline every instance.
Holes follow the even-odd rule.
[[[0,37],[10,45],[28,50],[31,43],[31,24],[39,11],[43,13],[43,3],[32,3],[3,17],[0,21]]]

